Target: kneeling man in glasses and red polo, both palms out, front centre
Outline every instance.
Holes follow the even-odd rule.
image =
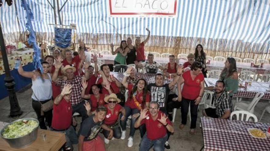
[[[149,150],[152,145],[154,150],[164,150],[168,137],[167,130],[173,133],[174,128],[165,113],[159,110],[158,102],[152,101],[149,103],[149,110],[147,108],[141,110],[134,127],[138,128],[141,124],[145,124],[146,134],[141,139],[139,150]]]

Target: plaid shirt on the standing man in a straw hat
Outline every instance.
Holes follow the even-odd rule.
[[[69,82],[68,80],[63,80],[59,78],[59,82],[57,86],[61,87],[61,90],[63,90],[64,86],[66,84],[71,84],[72,87],[72,95],[71,95],[71,106],[77,105],[80,102],[82,102],[81,98],[81,81],[83,79],[83,76],[74,76],[72,82]]]

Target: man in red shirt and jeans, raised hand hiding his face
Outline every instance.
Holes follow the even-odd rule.
[[[78,137],[75,129],[71,126],[71,124],[76,125],[77,123],[75,117],[72,118],[71,94],[72,86],[66,84],[60,95],[54,99],[51,129],[65,133],[67,146],[73,150],[72,144],[78,143]]]

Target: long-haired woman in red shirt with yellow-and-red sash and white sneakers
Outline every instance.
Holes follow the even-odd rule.
[[[125,120],[121,121],[121,127],[122,127],[122,136],[121,139],[125,139],[125,128],[126,128],[126,120],[128,117],[131,115],[131,124],[130,124],[130,132],[129,132],[129,142],[128,142],[128,147],[133,146],[133,136],[135,133],[135,128],[134,124],[137,118],[140,116],[140,111],[144,108],[148,108],[149,102],[150,102],[150,94],[147,90],[147,82],[145,79],[139,79],[136,84],[128,84],[127,77],[130,75],[132,70],[132,67],[129,67],[125,74],[124,78],[122,80],[123,86],[129,91],[129,96],[127,101],[125,102],[125,112],[126,112],[126,117]],[[145,134],[145,125],[140,126],[140,133],[141,133],[141,138]]]

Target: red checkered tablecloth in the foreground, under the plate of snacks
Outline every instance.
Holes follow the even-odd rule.
[[[266,131],[269,124],[201,117],[205,151],[266,151],[270,138],[254,138],[247,128]]]

